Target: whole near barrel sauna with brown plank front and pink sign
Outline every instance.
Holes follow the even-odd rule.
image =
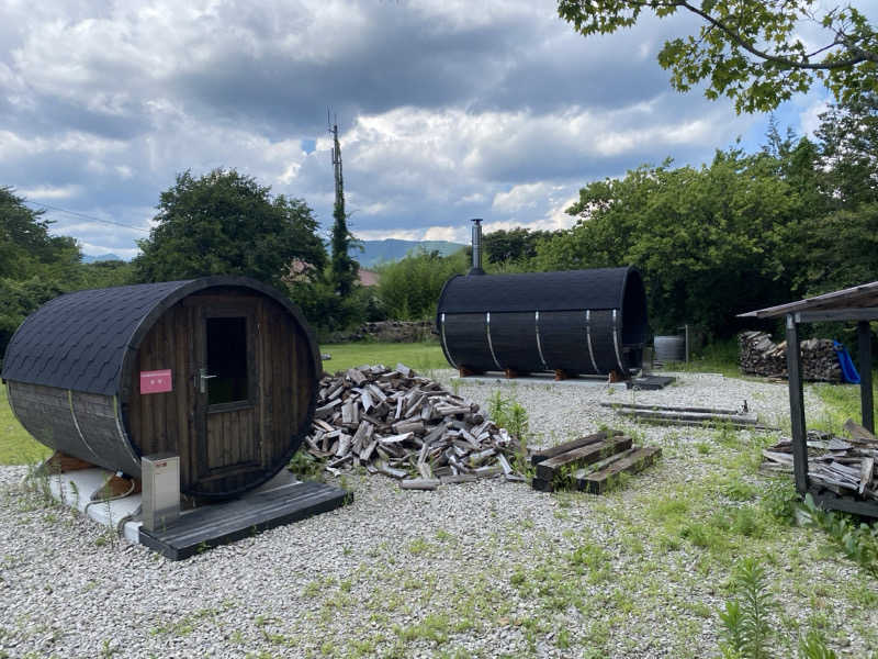
[[[300,310],[256,280],[79,291],[31,314],[3,360],[9,402],[46,446],[139,478],[180,456],[180,490],[239,494],[308,432],[322,372]]]

